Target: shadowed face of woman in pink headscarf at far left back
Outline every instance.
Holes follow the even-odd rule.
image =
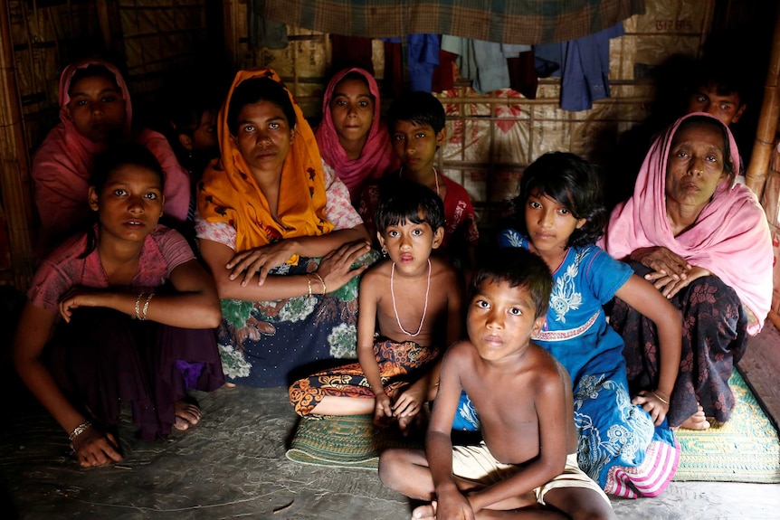
[[[94,142],[121,137],[125,128],[125,99],[115,81],[103,76],[83,78],[71,85],[65,112],[79,133]]]

